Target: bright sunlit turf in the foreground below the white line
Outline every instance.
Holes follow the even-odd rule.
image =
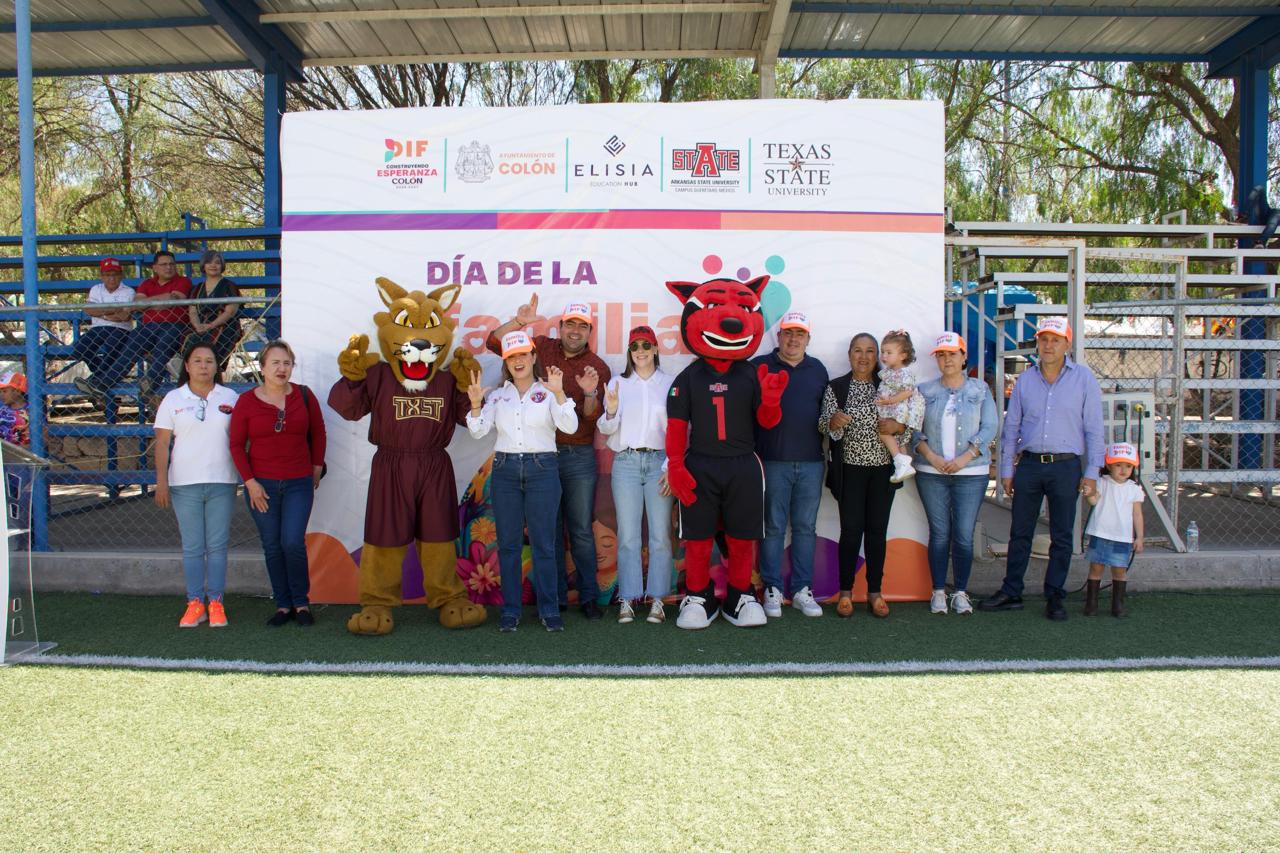
[[[986,621],[963,630],[992,630]],[[275,648],[301,648],[285,637]],[[173,648],[204,640],[184,642]],[[18,666],[0,670],[0,848],[1263,850],[1280,845],[1276,731],[1274,670],[564,679]]]

